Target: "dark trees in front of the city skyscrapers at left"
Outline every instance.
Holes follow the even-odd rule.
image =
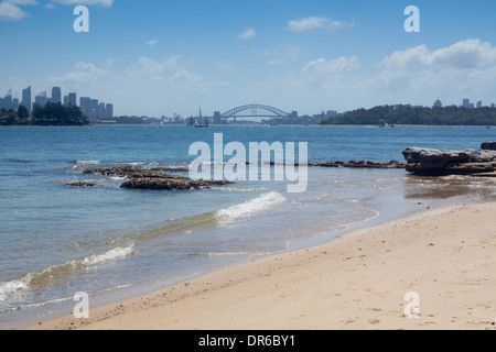
[[[77,106],[47,102],[35,106],[32,117],[24,106],[17,111],[0,110],[0,125],[88,125],[89,119]]]

